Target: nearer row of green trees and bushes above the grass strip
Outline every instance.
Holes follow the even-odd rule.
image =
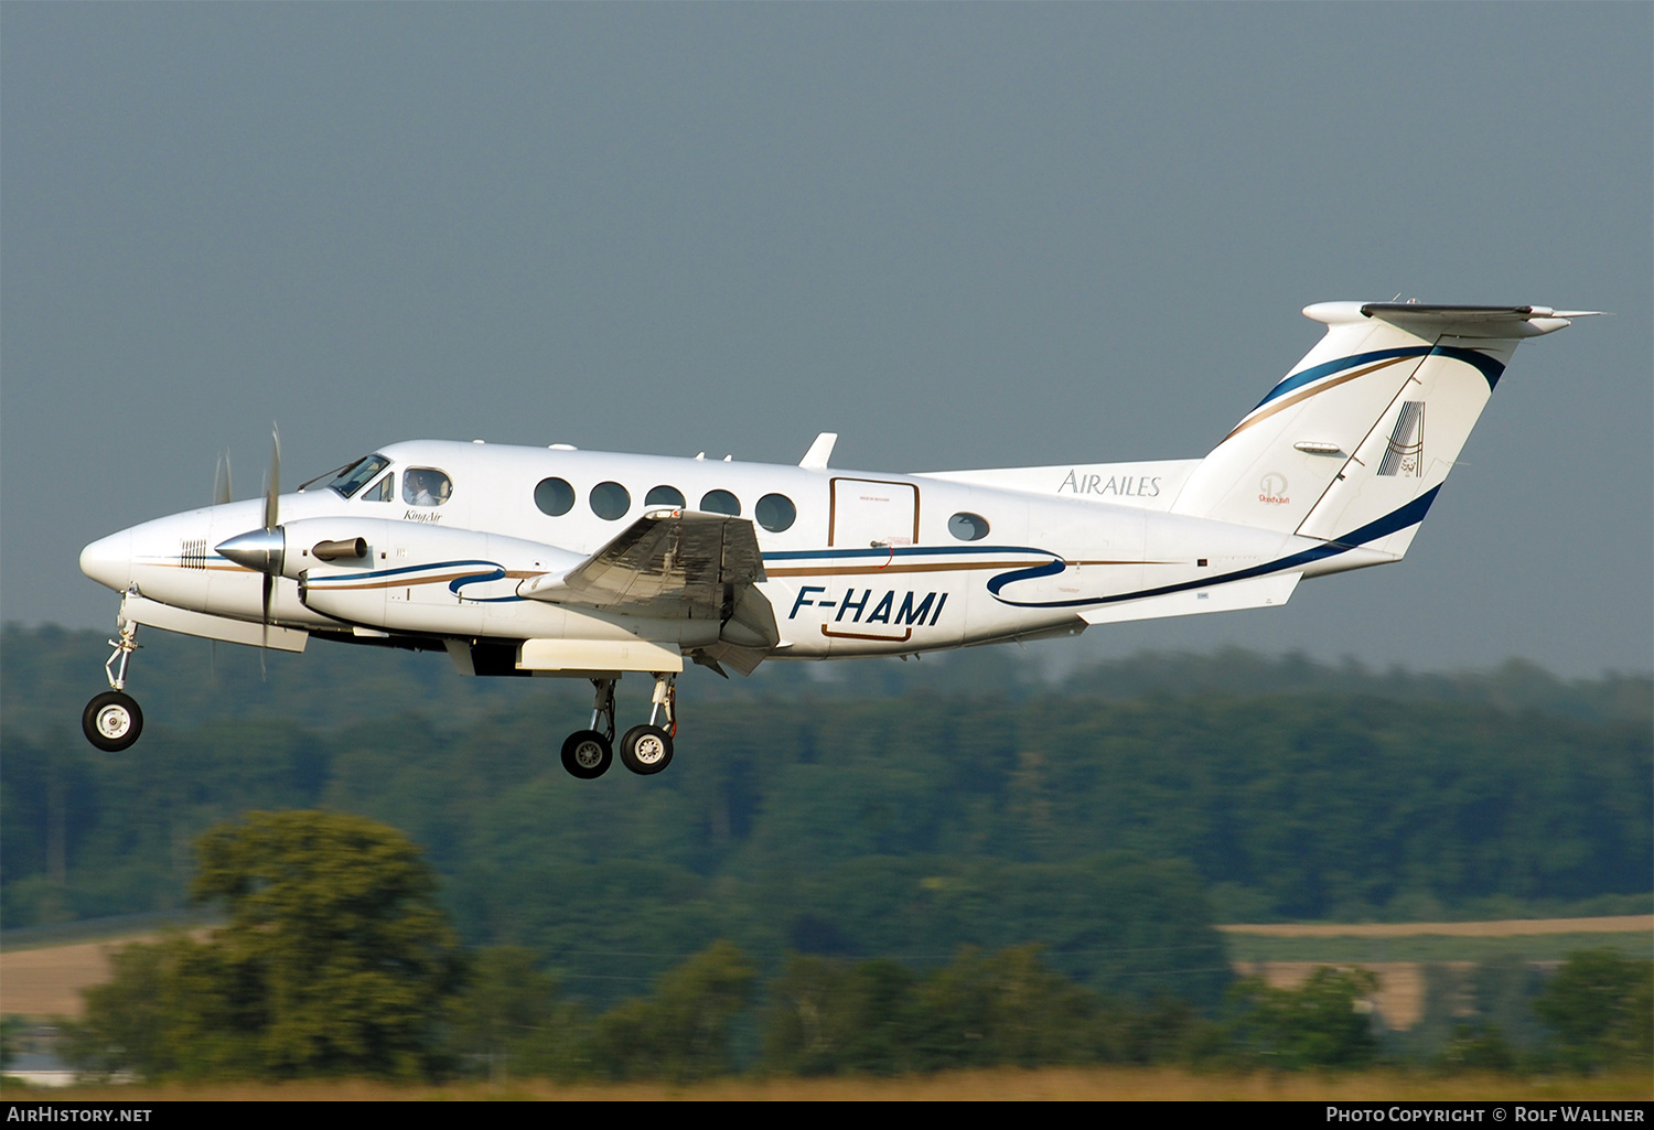
[[[132,945],[88,991],[68,1051],[89,1074],[146,1079],[549,1077],[688,1082],[736,1070],[913,1074],[961,1067],[1164,1064],[1360,1069],[1384,1056],[1361,971],[1302,988],[1257,979],[1201,1011],[1054,971],[1040,946],[959,950],[916,971],[791,953],[761,976],[716,941],[650,991],[590,1011],[538,955],[466,950],[437,879],[390,827],[337,812],[255,812],[197,844],[207,940]],[[1598,1070],[1651,1061],[1654,965],[1581,953],[1538,994],[1545,1047],[1490,1026],[1454,1034],[1437,1069]]]

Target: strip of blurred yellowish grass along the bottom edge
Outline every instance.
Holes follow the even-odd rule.
[[[7,1089],[8,1097],[18,1095]],[[908,1079],[719,1079],[686,1087],[667,1084],[614,1084],[559,1087],[544,1082],[504,1085],[466,1084],[452,1087],[397,1087],[361,1080],[296,1084],[215,1084],[165,1087],[76,1087],[71,1090],[28,1092],[31,1097],[106,1099],[117,1102],[189,1100],[301,1100],[301,1102],[395,1102],[395,1100],[607,1100],[655,1102],[853,1102],[853,1100],[1345,1100],[1345,1102],[1533,1102],[1533,1100],[1616,1100],[1654,1099],[1654,1080],[1646,1070],[1611,1075],[1507,1079],[1502,1075],[1459,1075],[1436,1079],[1422,1074],[1363,1072],[1353,1075],[1310,1074],[1196,1074],[1179,1069],[1073,1067],[1044,1070],[971,1070]]]

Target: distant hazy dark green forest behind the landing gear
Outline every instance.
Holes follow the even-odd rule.
[[[1097,991],[1211,1003],[1214,920],[1623,912],[1651,887],[1637,678],[1517,667],[1432,695],[1426,677],[1229,657],[1229,678],[1282,688],[1240,697],[1212,658],[1052,685],[966,655],[921,682],[850,665],[849,693],[766,665],[696,685],[670,773],[581,783],[556,761],[589,711],[566,680],[318,645],[260,683],[227,647],[213,692],[205,644],[152,650],[151,731],[111,758],[73,728],[98,649],[7,630],[7,928],[184,907],[195,836],[316,806],[402,829],[468,945],[556,953],[597,1004],[718,938],[766,966],[1040,941]],[[270,713],[237,706],[243,690]]]

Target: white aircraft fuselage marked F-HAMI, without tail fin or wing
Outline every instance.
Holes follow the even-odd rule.
[[[849,470],[412,440],[380,448],[389,498],[327,486],[280,498],[288,561],[271,622],[311,632],[372,630],[466,640],[640,637],[693,649],[718,624],[569,607],[518,592],[566,571],[647,511],[670,488],[685,510],[723,506],[792,520],[767,529],[759,591],[781,642],[771,658],[918,654],[992,640],[1077,634],[1085,612],[1146,596],[1217,587],[1320,543],[1168,511],[1196,460],[1019,468],[1017,490],[958,481],[959,473]],[[440,505],[410,505],[410,470],[452,485]],[[963,473],[969,476],[969,473]],[[536,505],[547,480],[572,505]],[[615,490],[619,486],[619,490]],[[594,495],[595,491],[595,495]],[[380,491],[385,493],[385,491]],[[716,496],[715,496],[716,493]],[[564,498],[567,501],[567,498]],[[551,508],[557,508],[552,500]],[[672,503],[665,503],[670,506]],[[253,529],[261,501],[235,501],[149,521],[93,543],[88,576],[165,606],[260,624],[258,569],[215,546]],[[602,506],[602,513],[599,513]],[[323,563],[309,546],[366,538],[361,561]],[[1371,564],[1341,554],[1310,571]],[[1303,564],[1285,566],[1305,571]],[[1191,606],[1191,610],[1201,610]]]

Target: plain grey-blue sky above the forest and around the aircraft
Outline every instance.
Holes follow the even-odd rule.
[[[1399,567],[1093,629],[1649,670],[1654,7],[0,5],[0,614],[397,438],[1202,455],[1318,299],[1527,344]],[[1052,645],[1062,649],[1068,645]]]

